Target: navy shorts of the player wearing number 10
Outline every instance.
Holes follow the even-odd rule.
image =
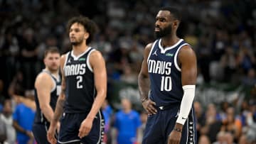
[[[157,108],[157,113],[148,116],[142,144],[167,144],[178,118],[179,106]],[[181,144],[196,144],[196,118],[193,109],[183,125]]]

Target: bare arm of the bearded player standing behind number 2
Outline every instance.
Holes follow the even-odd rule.
[[[53,79],[46,72],[42,72],[36,77],[35,88],[38,94],[39,106],[49,122],[53,118],[53,109],[50,107],[50,91],[53,87]]]

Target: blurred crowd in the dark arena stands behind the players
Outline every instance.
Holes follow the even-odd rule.
[[[181,9],[178,36],[196,51],[198,84],[224,82],[252,87],[239,110],[235,101],[208,106],[195,102],[198,143],[256,143],[256,1],[252,0],[0,0],[0,137],[1,128],[8,127],[6,143],[12,144],[20,137],[18,126],[31,131],[33,108],[20,99],[33,99],[31,89],[36,74],[44,68],[44,50],[51,46],[61,53],[70,50],[65,29],[69,18],[82,14],[97,23],[99,33],[91,45],[105,57],[111,91],[113,81],[137,84],[143,50],[154,41],[155,16],[161,6]],[[111,100],[110,94],[107,99]],[[132,111],[138,119],[131,124],[131,131],[139,128],[143,133],[146,113],[124,110],[132,109],[132,104],[127,105],[129,102],[118,108],[111,109],[112,104],[102,108],[108,119],[106,143],[118,140],[112,129],[121,133],[125,126],[118,120],[126,118],[121,112]],[[6,124],[2,126],[2,122]],[[18,123],[15,128],[14,122]],[[30,133],[27,136],[33,138]]]

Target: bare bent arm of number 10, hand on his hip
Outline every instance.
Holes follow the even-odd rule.
[[[149,72],[148,72],[148,65],[147,65],[147,59],[149,57],[149,52],[151,50],[153,43],[149,43],[146,45],[146,48],[144,49],[144,60],[142,61],[142,68],[139,72],[138,77],[138,85],[139,85],[139,94],[141,96],[142,106],[149,114],[156,114],[156,109],[154,106],[156,103],[154,101],[151,101],[149,99]]]

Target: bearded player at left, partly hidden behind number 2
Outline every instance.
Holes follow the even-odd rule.
[[[48,143],[47,131],[60,94],[60,52],[58,48],[48,48],[43,62],[46,69],[38,74],[35,82],[36,116],[33,123],[33,135],[38,144]],[[59,125],[57,123],[57,127]]]

